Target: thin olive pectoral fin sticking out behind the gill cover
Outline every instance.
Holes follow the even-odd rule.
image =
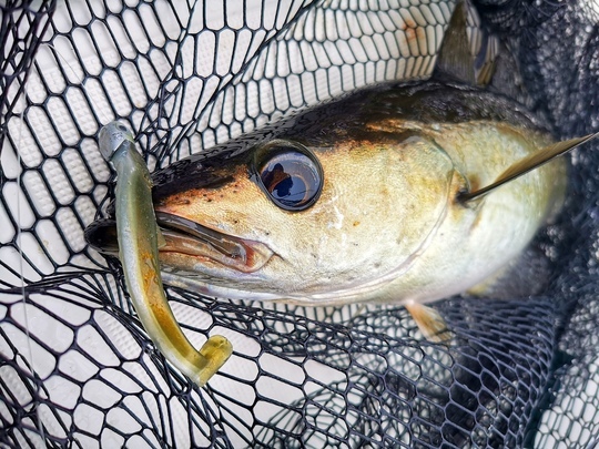
[[[545,146],[544,149],[540,149],[539,151],[521,159],[520,161],[514,163],[511,166],[509,166],[504,173],[501,173],[497,180],[495,180],[494,183],[487,185],[486,187],[479,188],[474,192],[465,192],[460,193],[458,198],[463,202],[468,202],[475,198],[478,198],[483,195],[486,195],[497,187],[516,180],[517,177],[520,177],[525,173],[528,173],[535,169],[538,169],[539,166],[546,164],[547,162],[551,161],[552,159],[560,156],[562,154],[566,154],[567,152],[576,149],[577,146],[597,137],[599,135],[598,133],[595,134],[588,134],[583,137],[576,137],[570,139],[567,141],[561,141],[554,143],[551,145]]]

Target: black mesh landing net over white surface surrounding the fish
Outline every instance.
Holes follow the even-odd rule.
[[[559,137],[599,129],[597,2],[484,0],[526,102]],[[544,296],[301,308],[167,288],[194,346],[234,346],[199,389],[135,318],[83,229],[112,194],[97,146],[128,123],[169,166],[292,110],[426,79],[447,1],[0,3],[0,443],[24,447],[587,447],[599,432],[599,155],[577,151],[537,238]],[[597,143],[593,144],[597,147]]]

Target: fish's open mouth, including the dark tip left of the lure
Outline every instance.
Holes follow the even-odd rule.
[[[235,237],[204,226],[192,220],[155,212],[156,223],[164,237],[164,244],[159,248],[161,262],[166,262],[171,255],[183,258],[185,266],[173,266],[184,271],[195,272],[197,264],[217,264],[240,273],[254,273],[262,268],[274,255],[265,244],[246,238]],[[118,256],[116,227],[114,220],[101,220],[85,229],[85,239],[102,254]],[[177,263],[176,265],[180,265]]]

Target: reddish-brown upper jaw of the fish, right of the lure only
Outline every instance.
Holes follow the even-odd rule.
[[[262,268],[273,256],[265,244],[215,231],[180,215],[155,211],[166,241],[161,253],[179,253],[209,258],[242,273]]]

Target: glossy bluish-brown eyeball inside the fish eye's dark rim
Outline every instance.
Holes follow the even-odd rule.
[[[260,177],[271,200],[292,211],[311,205],[322,184],[314,161],[295,149],[276,151],[262,164]]]

